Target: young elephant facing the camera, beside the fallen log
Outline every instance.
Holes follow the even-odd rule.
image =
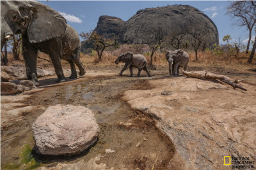
[[[189,55],[183,50],[168,51],[165,57],[168,60],[171,75],[179,76],[179,67],[184,67],[184,70],[187,70]]]

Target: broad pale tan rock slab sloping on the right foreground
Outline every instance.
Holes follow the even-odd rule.
[[[184,77],[148,83],[155,89],[129,90],[123,99],[151,115],[172,140],[170,169],[230,169],[224,156],[255,161],[255,87],[243,83],[250,89],[245,93],[219,81]]]

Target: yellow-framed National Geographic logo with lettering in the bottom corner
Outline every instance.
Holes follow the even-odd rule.
[[[224,157],[224,166],[231,166],[232,169],[254,169],[255,160],[250,160],[250,157]]]

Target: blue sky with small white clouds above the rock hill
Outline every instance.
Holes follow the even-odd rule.
[[[225,15],[228,1],[40,1],[51,6],[67,19],[78,33],[90,31],[97,25],[100,15],[109,15],[126,21],[136,14],[136,11],[173,4],[189,4],[204,12],[218,27],[220,43],[223,36],[230,34],[231,38],[246,43],[248,31],[246,27],[237,27],[229,15]],[[255,34],[253,34],[255,36]]]

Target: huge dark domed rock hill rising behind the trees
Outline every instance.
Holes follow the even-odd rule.
[[[211,46],[218,44],[218,29],[204,13],[189,5],[173,5],[139,10],[126,22],[117,17],[100,16],[94,31],[106,38],[116,39],[120,43],[150,44],[155,39],[156,31],[161,27],[164,34],[177,31],[188,32],[190,28],[205,27]],[[82,42],[82,52],[90,43]]]

